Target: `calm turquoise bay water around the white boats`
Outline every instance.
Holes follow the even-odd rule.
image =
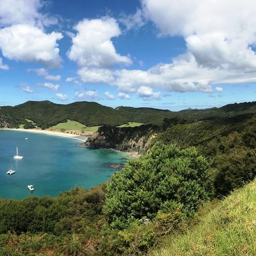
[[[116,172],[112,164],[128,160],[125,153],[83,148],[80,143],[46,134],[0,131],[0,197],[56,196],[76,185],[90,188],[109,180]],[[16,146],[22,160],[13,159]],[[11,161],[16,173],[7,175]],[[27,188],[30,184],[33,192]]]

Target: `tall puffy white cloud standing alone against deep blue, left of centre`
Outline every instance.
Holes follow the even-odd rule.
[[[80,67],[111,68],[115,64],[132,64],[129,57],[116,52],[111,41],[121,34],[114,18],[84,19],[74,29],[77,34],[72,38],[73,45],[67,56]]]

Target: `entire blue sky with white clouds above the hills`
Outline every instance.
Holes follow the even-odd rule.
[[[255,13],[251,0],[0,0],[0,105],[253,101]]]

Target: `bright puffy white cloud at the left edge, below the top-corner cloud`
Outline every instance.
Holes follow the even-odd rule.
[[[57,40],[61,33],[44,33],[41,29],[18,24],[0,29],[3,56],[16,61],[38,61],[49,67],[61,67]]]

